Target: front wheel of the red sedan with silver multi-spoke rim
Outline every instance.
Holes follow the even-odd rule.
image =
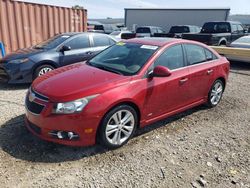
[[[134,135],[137,124],[138,116],[134,108],[128,105],[117,106],[104,116],[97,139],[106,148],[119,148]]]

